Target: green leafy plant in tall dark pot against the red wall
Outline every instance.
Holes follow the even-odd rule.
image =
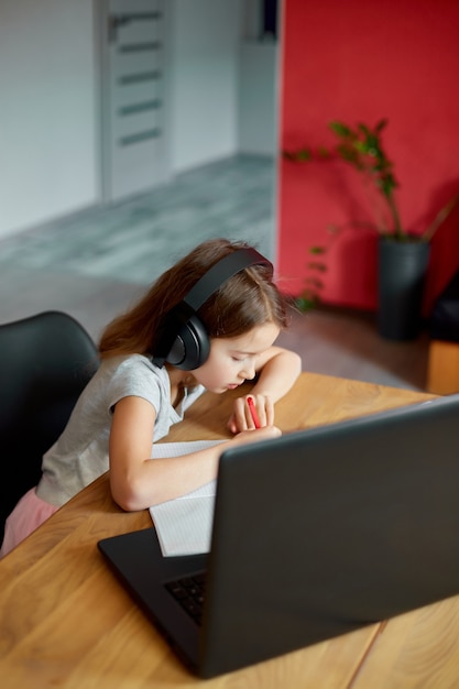
[[[420,234],[411,233],[402,223],[395,197],[398,183],[394,175],[394,165],[382,144],[382,132],[387,120],[380,120],[375,127],[357,124],[354,128],[343,122],[330,122],[329,127],[337,138],[334,147],[320,147],[317,151],[300,149],[285,152],[284,157],[296,162],[312,160],[340,160],[353,167],[369,188],[376,192],[373,197],[374,223],[365,223],[379,236],[379,331],[390,339],[411,339],[418,333],[425,274],[427,271],[430,241],[459,201],[456,194],[437,214],[434,221]],[[329,226],[337,233],[339,227]],[[310,253],[315,260],[309,264],[315,271],[325,270],[318,254],[323,247],[313,247]],[[320,288],[320,281],[313,278],[313,284],[303,295],[303,306],[314,303],[315,289]]]

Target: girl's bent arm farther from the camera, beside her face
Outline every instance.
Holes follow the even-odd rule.
[[[262,427],[274,425],[274,404],[293,386],[302,372],[302,359],[295,352],[282,347],[271,347],[258,357],[255,363],[256,382],[250,395],[234,401],[233,413],[228,422],[231,433],[253,428],[253,420],[247,404],[252,397]]]

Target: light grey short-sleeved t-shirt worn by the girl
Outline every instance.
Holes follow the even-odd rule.
[[[61,506],[108,470],[112,411],[122,397],[142,397],[154,406],[154,440],[159,440],[183,419],[204,390],[201,385],[185,389],[182,402],[174,408],[166,369],[157,368],[141,354],[103,360],[83,391],[65,430],[44,455],[36,494]]]

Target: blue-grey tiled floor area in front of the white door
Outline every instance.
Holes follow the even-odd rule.
[[[124,204],[80,214],[0,243],[0,267],[55,270],[146,285],[204,239],[273,251],[274,162],[238,156],[179,175]]]

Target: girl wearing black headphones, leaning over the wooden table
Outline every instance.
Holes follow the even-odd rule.
[[[143,510],[215,479],[229,444],[281,434],[274,403],[292,387],[300,359],[274,346],[287,325],[287,305],[272,276],[271,263],[254,249],[210,240],[106,328],[100,368],[44,455],[39,485],[9,516],[1,556],[108,469],[118,505]],[[223,393],[253,379],[260,428],[242,395],[228,420],[232,439],[184,457],[150,459],[152,442],[205,390]]]

